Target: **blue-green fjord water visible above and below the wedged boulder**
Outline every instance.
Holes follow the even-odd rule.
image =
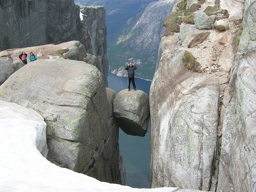
[[[119,77],[108,73],[108,87],[116,93],[128,88],[127,80],[128,77]],[[137,89],[144,91],[149,96],[151,81],[135,78],[135,83]],[[131,91],[134,91],[132,84]],[[119,150],[124,155],[127,185],[134,188],[150,188],[150,124],[144,137],[127,135],[119,129],[118,142]]]

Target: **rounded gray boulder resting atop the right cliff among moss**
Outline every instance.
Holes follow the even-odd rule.
[[[198,29],[211,29],[212,22],[209,16],[204,12],[196,12],[195,13],[195,26]]]

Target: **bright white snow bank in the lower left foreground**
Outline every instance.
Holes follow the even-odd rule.
[[[39,153],[46,146],[45,127],[42,116],[36,111],[0,101],[1,191],[183,191],[178,188],[138,189],[109,184],[60,168]]]

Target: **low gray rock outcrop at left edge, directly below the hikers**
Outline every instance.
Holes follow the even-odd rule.
[[[0,59],[0,85],[22,66],[24,66],[24,64],[21,62],[11,64],[8,60]]]

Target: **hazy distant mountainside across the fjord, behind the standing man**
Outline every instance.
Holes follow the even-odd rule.
[[[173,0],[77,0],[83,5],[104,5],[108,26],[108,62],[111,73],[126,76],[124,66],[134,62],[136,76],[151,80],[163,34],[163,21],[172,11]]]

